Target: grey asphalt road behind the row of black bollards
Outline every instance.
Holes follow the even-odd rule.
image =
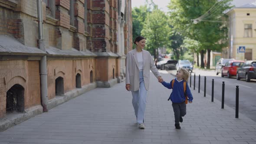
[[[171,71],[169,71],[171,73]],[[214,98],[221,101],[222,98],[222,82],[225,82],[224,103],[234,109],[236,107],[236,85],[239,86],[239,111],[256,121],[256,80],[246,82],[244,79],[236,80],[236,77],[228,79],[216,75],[214,70],[200,70],[195,69],[191,77],[191,89],[194,88],[194,74],[196,74],[195,87],[199,87],[200,75],[200,90],[204,90],[204,76],[206,76],[206,93],[211,96],[212,93],[212,79],[214,79]],[[188,80],[190,85],[190,78]],[[211,98],[209,98],[211,101]],[[221,105],[220,105],[221,108]]]

